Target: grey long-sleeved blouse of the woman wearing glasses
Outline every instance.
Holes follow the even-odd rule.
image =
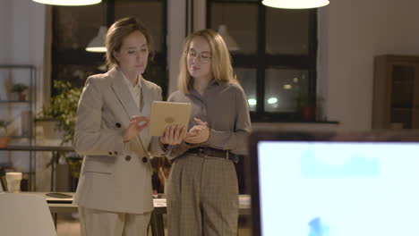
[[[191,103],[192,112],[188,130],[197,123],[193,118],[208,122],[209,139],[201,144],[181,143],[167,149],[167,157],[182,156],[192,147],[213,147],[230,150],[236,155],[247,154],[247,139],[251,121],[247,99],[239,84],[211,80],[201,96],[196,90],[184,94],[175,91],[167,101]]]

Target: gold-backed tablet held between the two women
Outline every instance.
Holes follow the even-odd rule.
[[[181,124],[187,128],[190,115],[190,103],[154,101],[151,105],[150,136],[162,136],[166,127],[172,124]]]

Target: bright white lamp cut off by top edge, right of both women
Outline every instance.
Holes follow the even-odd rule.
[[[262,4],[276,8],[305,9],[329,4],[329,0],[263,0]]]

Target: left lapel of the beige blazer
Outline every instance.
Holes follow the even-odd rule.
[[[128,116],[133,117],[134,115],[139,114],[138,107],[133,101],[133,96],[124,83],[124,76],[122,72],[114,67],[109,71],[109,75],[112,77],[112,89],[114,90],[116,97],[118,97],[121,105],[124,106]]]

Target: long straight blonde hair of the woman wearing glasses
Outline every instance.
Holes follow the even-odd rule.
[[[184,43],[184,51],[180,60],[179,76],[177,78],[178,89],[184,93],[189,93],[192,89],[191,74],[188,71],[187,56],[189,46],[195,37],[205,38],[211,49],[211,72],[217,81],[238,83],[231,65],[231,55],[223,38],[215,30],[206,29],[193,33]]]

